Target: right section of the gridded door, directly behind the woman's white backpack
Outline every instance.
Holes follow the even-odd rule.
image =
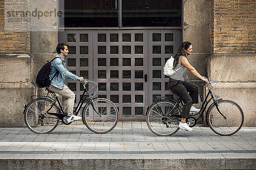
[[[163,75],[163,66],[166,61],[175,56],[181,42],[182,30],[177,29],[157,29],[149,30],[148,33],[148,58],[149,79],[148,99],[153,102],[154,96],[170,97],[173,94],[169,91],[169,77]]]

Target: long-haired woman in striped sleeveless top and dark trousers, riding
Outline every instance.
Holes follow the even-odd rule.
[[[196,69],[190,65],[187,57],[192,54],[192,51],[191,42],[183,42],[180,45],[180,48],[174,56],[173,68],[175,73],[170,77],[168,82],[168,88],[179,96],[184,103],[179,127],[189,131],[193,130],[186,123],[186,119],[189,118],[189,113],[200,111],[200,109],[192,106],[192,104],[198,103],[198,85],[185,81],[184,72],[186,69],[188,69],[196,77],[209,84],[208,79],[201,76],[198,71],[196,71]]]

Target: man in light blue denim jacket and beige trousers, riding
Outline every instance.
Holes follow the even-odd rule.
[[[60,43],[56,47],[56,51],[58,55],[55,60],[52,62],[52,67],[50,71],[49,78],[51,81],[51,84],[49,85],[48,89],[49,91],[55,92],[61,96],[63,96],[65,99],[62,103],[63,110],[67,108],[67,115],[68,119],[67,122],[72,122],[75,120],[79,120],[82,117],[76,116],[73,114],[73,108],[75,103],[75,94],[73,91],[71,91],[67,85],[65,85],[65,77],[68,77],[70,79],[78,80],[82,82],[84,79],[83,77],[78,77],[75,74],[71,73],[66,68],[66,63],[64,58],[67,57],[68,54],[68,45],[64,43]],[[54,75],[58,72],[58,74],[54,77]],[[53,79],[52,79],[53,77]]]

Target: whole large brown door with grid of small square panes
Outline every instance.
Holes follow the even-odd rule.
[[[114,102],[121,120],[145,119],[154,96],[172,96],[163,66],[182,42],[181,29],[65,30],[58,36],[69,45],[67,69],[98,82],[97,96]],[[76,106],[83,86],[72,79],[66,85]]]

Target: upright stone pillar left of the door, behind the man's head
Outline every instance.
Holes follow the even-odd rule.
[[[30,56],[35,60],[35,76],[47,60],[53,59],[56,55],[58,44],[57,22],[58,11],[56,0],[32,0],[30,2],[31,12],[42,12],[41,17],[31,17],[31,51]],[[56,11],[56,12],[57,12]]]

